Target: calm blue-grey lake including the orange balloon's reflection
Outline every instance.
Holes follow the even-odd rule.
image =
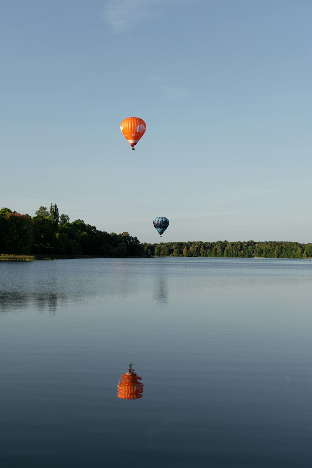
[[[0,262],[1,468],[310,467],[311,265]]]

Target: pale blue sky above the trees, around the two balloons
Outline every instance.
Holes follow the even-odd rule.
[[[312,240],[310,0],[0,0],[0,205]],[[135,151],[125,117],[146,132]],[[0,207],[1,207],[0,206]]]

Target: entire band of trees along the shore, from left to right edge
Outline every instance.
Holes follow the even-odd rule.
[[[59,215],[51,203],[35,212],[35,216],[0,210],[0,254],[67,255],[67,256],[175,256],[175,257],[312,257],[312,243],[298,242],[161,242],[140,243],[127,232],[99,231],[82,219],[70,222],[65,213]]]

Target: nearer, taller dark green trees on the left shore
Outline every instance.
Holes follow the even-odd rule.
[[[0,210],[0,254],[127,257],[143,256],[137,237],[99,231],[82,219],[72,223],[57,205],[40,206],[35,216]]]

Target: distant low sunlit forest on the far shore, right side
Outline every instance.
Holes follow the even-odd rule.
[[[161,242],[144,243],[146,256],[160,257],[265,257],[265,258],[308,258],[312,257],[312,243],[298,242]]]

